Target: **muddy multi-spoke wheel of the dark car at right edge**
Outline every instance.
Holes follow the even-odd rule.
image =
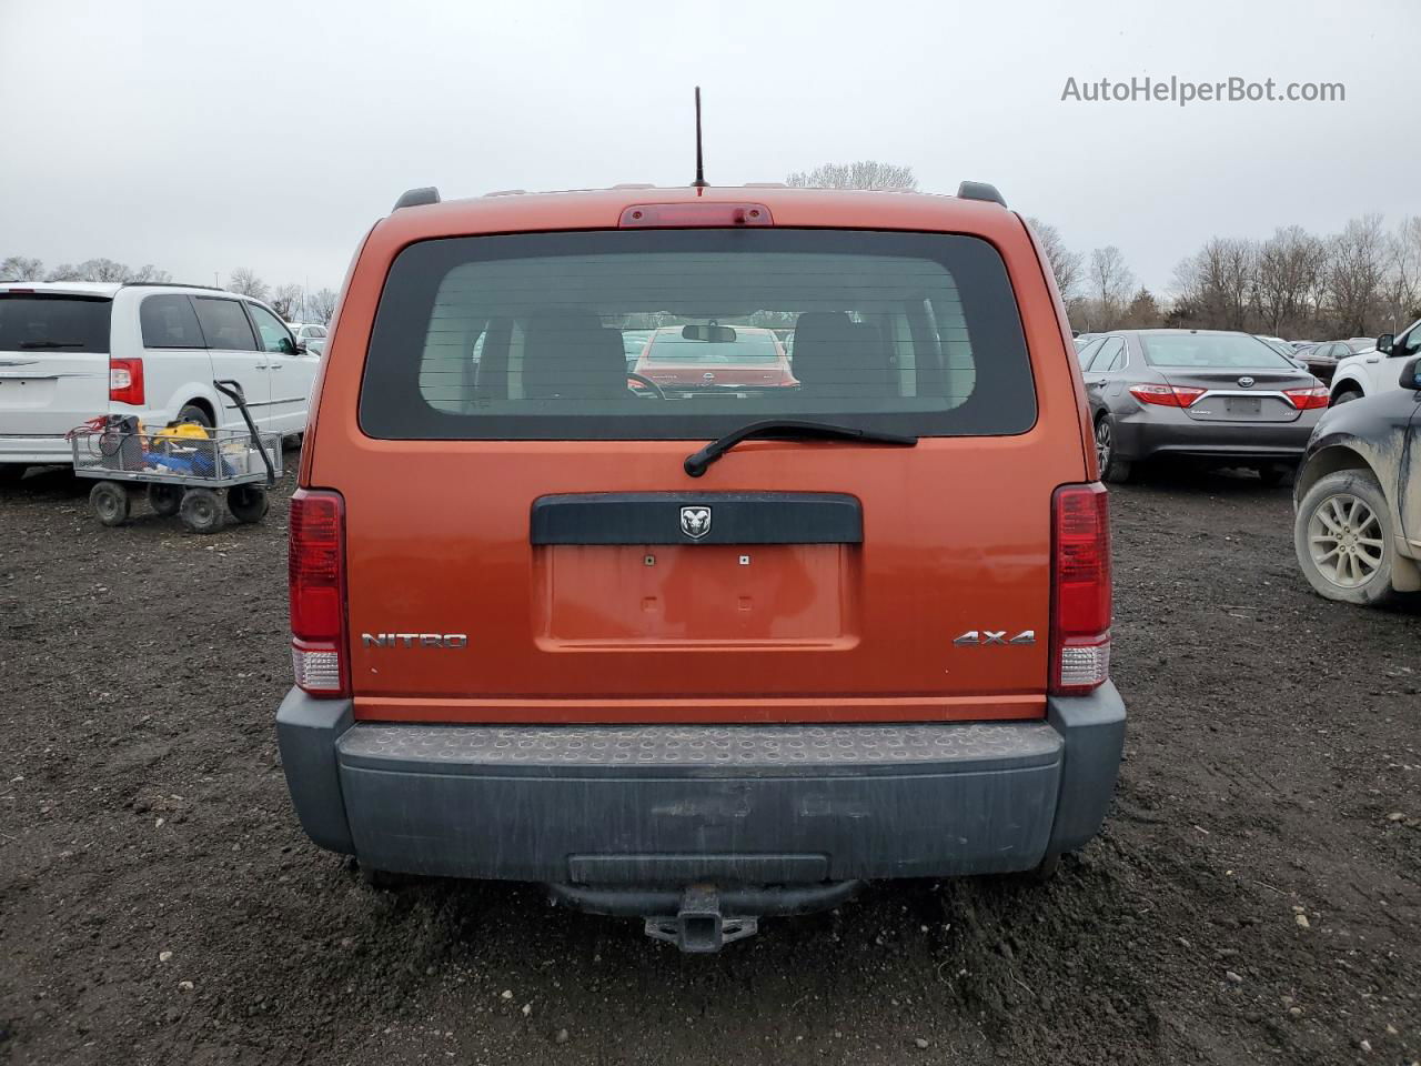
[[[1371,470],[1320,478],[1297,506],[1293,549],[1309,584],[1329,600],[1378,604],[1394,596],[1391,512]]]

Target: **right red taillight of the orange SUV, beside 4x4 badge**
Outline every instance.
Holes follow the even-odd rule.
[[[1052,496],[1050,671],[1059,696],[1110,679],[1110,506],[1098,482]]]

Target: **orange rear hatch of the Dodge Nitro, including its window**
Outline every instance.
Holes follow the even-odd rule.
[[[722,384],[728,352],[773,351],[770,328],[793,333],[793,387]],[[645,330],[675,335],[665,387],[625,370],[624,334]],[[1084,475],[1043,414],[1012,279],[980,236],[409,243],[365,352],[361,469],[340,479],[358,714],[1040,715],[1052,492]],[[918,443],[790,429],[688,479],[706,441],[774,419]],[[1073,439],[1076,412],[1053,429]]]

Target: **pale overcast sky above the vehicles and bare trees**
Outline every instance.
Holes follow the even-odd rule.
[[[996,183],[1167,289],[1211,235],[1421,213],[1421,3],[0,0],[0,257],[337,287],[406,188],[712,183],[863,158]],[[1061,102],[1066,80],[1346,102]]]

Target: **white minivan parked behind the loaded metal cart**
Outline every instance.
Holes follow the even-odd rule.
[[[266,304],[175,284],[0,284],[0,480],[68,463],[64,434],[95,415],[145,426],[243,426],[213,378],[242,384],[260,429],[306,429],[320,357]]]

